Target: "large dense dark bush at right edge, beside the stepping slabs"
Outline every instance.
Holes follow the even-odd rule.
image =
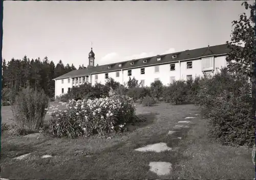
[[[253,102],[248,89],[247,77],[231,75],[226,69],[200,82],[196,105],[209,118],[210,135],[224,145],[255,143]]]

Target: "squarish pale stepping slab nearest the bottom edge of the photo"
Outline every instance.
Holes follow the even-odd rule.
[[[157,175],[168,175],[173,171],[172,163],[168,162],[150,162],[150,171]]]

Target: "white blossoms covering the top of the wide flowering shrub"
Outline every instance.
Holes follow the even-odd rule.
[[[59,106],[56,108],[54,106],[50,107],[53,109],[51,114],[53,118],[61,119],[61,117],[66,116],[73,120],[81,120],[83,122],[94,122],[94,120],[97,122],[100,120],[110,124],[112,129],[114,129],[114,124],[116,124],[114,122],[119,120],[121,116],[125,117],[126,114],[130,113],[131,111],[135,111],[132,98],[127,96],[122,96],[119,98],[106,97],[94,100],[83,99],[78,101],[72,99],[68,104],[61,103],[61,105],[66,105],[67,110],[58,110]],[[124,125],[125,123],[119,124],[118,126],[122,128]],[[81,126],[80,123],[79,126]]]

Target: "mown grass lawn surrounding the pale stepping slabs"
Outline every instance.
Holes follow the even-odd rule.
[[[56,103],[55,103],[56,105]],[[198,107],[160,103],[153,107],[137,104],[137,114],[146,122],[130,126],[129,132],[111,139],[58,139],[30,134],[2,134],[1,177],[10,179],[252,179],[251,149],[228,147],[207,138],[207,120],[192,119],[190,129],[176,137],[167,134],[185,117],[195,117]],[[12,118],[9,106],[2,107],[2,123]],[[50,119],[46,117],[46,122]],[[9,122],[11,123],[11,122]],[[134,149],[163,142],[172,151],[137,152]],[[32,153],[26,160],[18,155]],[[51,154],[53,158],[40,159]],[[173,164],[173,172],[157,176],[149,171],[153,161]]]

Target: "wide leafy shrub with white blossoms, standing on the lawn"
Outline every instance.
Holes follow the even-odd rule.
[[[54,108],[51,114],[49,132],[55,137],[105,136],[124,131],[127,123],[137,120],[133,100],[127,96],[71,100],[66,110]]]

